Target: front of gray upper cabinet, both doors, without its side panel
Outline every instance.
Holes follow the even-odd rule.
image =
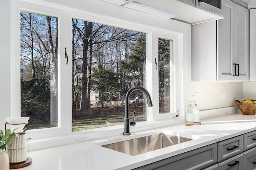
[[[249,80],[248,9],[222,1],[224,19],[218,21],[218,80]]]

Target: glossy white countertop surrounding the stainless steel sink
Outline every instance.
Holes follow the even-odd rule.
[[[112,136],[28,152],[32,164],[22,170],[130,170],[164,158],[175,156],[208,144],[219,142],[256,130],[256,116],[228,115],[201,121],[202,125],[174,125],[147,133],[164,132],[193,138],[188,142],[168,146],[137,156],[130,156],[100,145],[145,136],[136,132],[131,136]],[[135,127],[136,128],[136,127]]]

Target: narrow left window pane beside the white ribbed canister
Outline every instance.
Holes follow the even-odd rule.
[[[58,18],[20,12],[21,116],[28,129],[58,126]]]

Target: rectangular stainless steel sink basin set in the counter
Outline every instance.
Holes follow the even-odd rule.
[[[116,150],[132,156],[172,146],[182,142],[187,142],[189,138],[183,138],[180,136],[172,136],[164,133],[153,134],[150,136],[144,136],[131,140],[125,140],[122,142],[116,142],[111,144],[102,145],[105,148]]]

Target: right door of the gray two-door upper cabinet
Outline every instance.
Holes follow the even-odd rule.
[[[235,80],[249,80],[249,16],[248,9],[235,4]]]

